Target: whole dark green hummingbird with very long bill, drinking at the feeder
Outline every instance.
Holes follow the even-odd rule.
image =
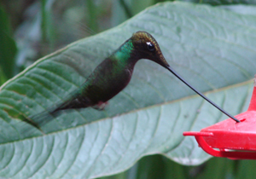
[[[57,102],[53,107],[49,107],[45,112],[26,119],[26,122],[39,129],[40,125],[49,121],[49,116],[55,117],[62,110],[85,107],[102,110],[113,96],[119,94],[129,84],[134,66],[141,59],[148,59],[163,66],[222,113],[236,122],[240,122],[180,77],[166,61],[153,36],[143,31],[133,33],[131,38],[121,44],[112,55],[96,66],[96,69],[77,90],[64,97],[64,100]]]

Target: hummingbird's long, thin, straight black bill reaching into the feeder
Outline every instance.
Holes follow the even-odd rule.
[[[195,93],[197,93],[198,95],[201,95],[202,98],[204,98],[206,101],[208,101],[209,103],[211,103],[214,107],[218,108],[219,111],[221,111],[222,113],[226,114],[228,117],[234,119],[234,120],[236,121],[236,123],[240,123],[240,122],[241,122],[240,120],[238,120],[238,119],[235,118],[234,116],[230,115],[230,113],[225,112],[224,109],[222,109],[221,107],[218,107],[218,105],[215,104],[214,102],[212,102],[211,100],[209,100],[209,99],[207,98],[207,96],[201,94],[200,91],[196,90],[193,86],[191,86],[188,82],[186,82],[185,79],[183,79],[181,76],[179,76],[179,75],[177,74],[177,72],[175,72],[175,71],[172,69],[171,66],[167,66],[166,68],[167,68],[170,72],[172,72],[172,74],[174,74],[177,78],[179,78],[184,84],[187,84],[187,86],[189,86],[189,88],[190,88],[191,90],[194,90]]]

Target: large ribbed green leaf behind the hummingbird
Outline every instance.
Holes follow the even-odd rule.
[[[132,32],[152,33],[170,65],[232,114],[247,109],[256,72],[256,19],[191,3],[160,3],[107,32],[45,56],[0,91],[0,177],[93,178],[162,153],[183,165],[209,156],[183,131],[227,118],[152,61],[139,61],[131,83],[105,111],[63,113],[43,127],[20,122],[60,101]],[[248,81],[249,80],[249,81]]]

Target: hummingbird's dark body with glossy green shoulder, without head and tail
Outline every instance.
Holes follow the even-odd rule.
[[[73,93],[54,112],[70,109],[101,106],[117,95],[130,82],[133,68],[137,62],[131,58],[131,40],[125,42],[113,55],[96,67],[84,84]]]

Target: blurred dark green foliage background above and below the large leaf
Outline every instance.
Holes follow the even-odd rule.
[[[1,0],[0,84],[38,58],[80,38],[118,26],[158,0]],[[193,1],[212,5],[254,1]],[[255,161],[210,159],[183,166],[161,155],[147,156],[130,170],[104,178],[255,178]]]

